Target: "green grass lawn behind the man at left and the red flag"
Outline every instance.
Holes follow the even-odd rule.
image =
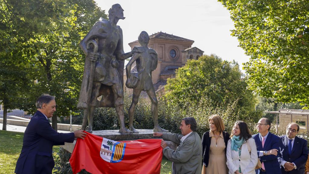
[[[0,130],[0,174],[14,174],[16,161],[23,146],[23,133]],[[58,152],[59,146],[53,151]],[[171,162],[162,159],[161,173],[171,172]]]

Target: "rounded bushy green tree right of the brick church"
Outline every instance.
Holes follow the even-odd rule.
[[[168,79],[165,98],[182,107],[209,100],[214,107],[227,107],[233,102],[241,115],[254,110],[255,98],[243,80],[239,65],[223,61],[216,55],[204,55],[190,60],[176,72],[176,78]]]

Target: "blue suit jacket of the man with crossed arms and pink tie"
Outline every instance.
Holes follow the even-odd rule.
[[[261,163],[264,162],[265,171],[267,174],[281,174],[280,164],[278,163],[278,156],[281,156],[279,153],[279,147],[281,145],[281,140],[277,135],[268,133],[268,136],[264,143],[264,148],[262,147],[262,142],[260,140],[260,133],[252,135],[252,138],[255,140],[257,155],[260,157],[259,151],[277,149],[278,154],[275,155],[265,155],[260,157]],[[256,170],[256,174],[258,170]]]

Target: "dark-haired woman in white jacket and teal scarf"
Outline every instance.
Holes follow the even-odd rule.
[[[258,160],[256,145],[247,124],[236,121],[230,137],[226,148],[226,165],[229,174],[255,174]]]

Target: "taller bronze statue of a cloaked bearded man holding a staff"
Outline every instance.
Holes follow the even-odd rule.
[[[112,5],[109,20],[100,18],[79,44],[86,61],[77,107],[84,109],[82,129],[88,120],[88,132],[92,132],[95,107],[115,107],[119,132],[132,133],[125,128],[122,89],[124,60],[133,52],[124,53],[122,30],[116,25],[125,19],[123,11],[119,4]]]

